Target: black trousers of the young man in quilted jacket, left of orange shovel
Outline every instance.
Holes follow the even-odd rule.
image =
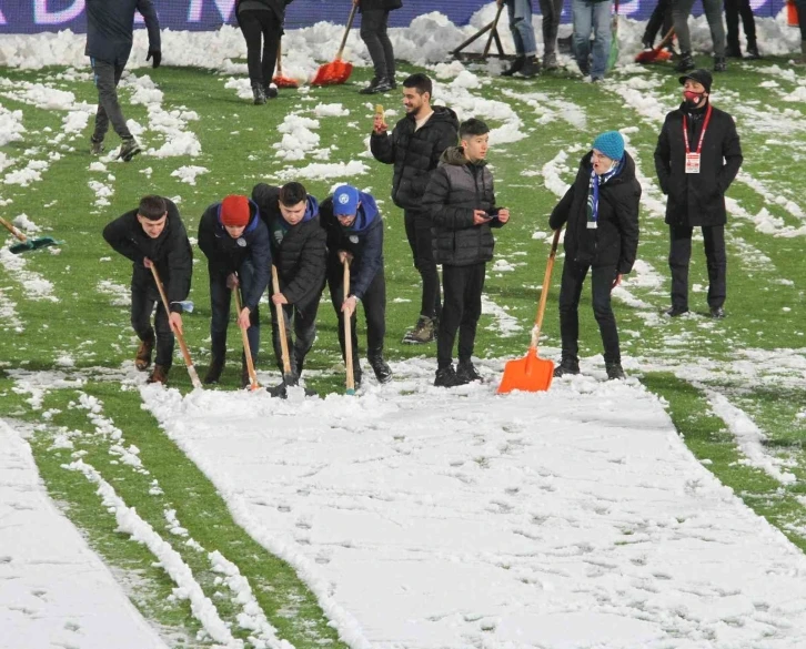
[[[482,291],[486,264],[442,266],[445,303],[436,336],[436,364],[440,369],[453,363],[453,343],[459,329],[459,361],[470,361],[482,315]]]

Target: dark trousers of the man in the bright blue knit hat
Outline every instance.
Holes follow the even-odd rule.
[[[563,280],[560,285],[560,334],[563,341],[563,359],[580,358],[580,296],[582,285],[591,266],[578,264],[565,257]],[[611,291],[616,278],[616,266],[594,266],[591,268],[591,302],[593,315],[598,324],[604,346],[605,363],[621,363],[616,317],[611,308]]]

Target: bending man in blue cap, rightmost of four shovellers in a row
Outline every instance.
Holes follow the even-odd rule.
[[[344,318],[352,324],[353,379],[361,383],[359,337],[355,310],[364,305],[366,318],[366,358],[379,383],[392,379],[392,369],[383,359],[386,335],[386,277],[383,272],[383,219],[372,194],[352,185],[336,187],[319,206],[322,226],[328,233],[328,286],[339,317],[339,344],[346,359]],[[350,295],[344,300],[344,260],[350,264]]]

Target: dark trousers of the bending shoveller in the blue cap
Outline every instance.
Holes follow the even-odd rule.
[[[344,314],[342,303],[344,302],[344,267],[341,264],[328,265],[328,287],[330,288],[330,301],[339,318],[339,345],[342,348],[342,358],[346,361],[344,349]],[[366,320],[366,357],[380,356],[383,354],[383,338],[386,335],[386,276],[383,266],[377,270],[375,277],[361,298]],[[356,317],[353,313],[350,318],[350,339],[353,347],[353,367],[357,367],[359,336],[355,332]]]

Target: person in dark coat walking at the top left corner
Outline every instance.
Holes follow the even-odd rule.
[[[118,159],[129,162],[140,153],[140,144],[134,140],[125,124],[123,111],[118,101],[118,83],[125,69],[131,53],[134,31],[134,12],[139,11],[145,20],[149,31],[149,53],[145,60],[152,60],[159,68],[162,61],[160,43],[160,21],[151,0],[87,0],[87,48],[84,53],[90,58],[98,88],[98,111],[95,129],[91,138],[90,152],[100,155],[103,152],[103,139],[112,122],[114,132],[123,143]]]

